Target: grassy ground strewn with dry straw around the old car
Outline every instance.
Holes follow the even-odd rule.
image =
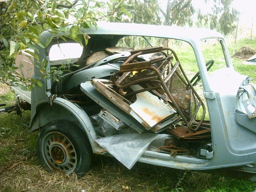
[[[245,45],[256,50],[256,40],[241,40],[229,45],[230,54]],[[236,58],[233,64],[236,71],[256,79],[256,66],[243,65]],[[190,71],[197,70],[190,68]],[[11,105],[14,100],[10,89],[0,84],[0,103]],[[36,154],[38,132],[27,133],[29,121],[30,111],[24,112],[22,119],[15,114],[0,114],[0,191],[252,192],[256,189],[256,184],[248,180],[142,163],[128,170],[116,159],[104,156],[95,156],[91,170],[81,179],[76,175],[48,173],[40,166]]]

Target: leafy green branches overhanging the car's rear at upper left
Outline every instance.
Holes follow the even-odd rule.
[[[39,63],[36,53],[37,46],[46,47],[50,42],[42,41],[40,33],[44,30],[51,30],[56,38],[65,40],[61,32],[70,28],[68,38],[82,44],[89,38],[81,34],[79,29],[97,26],[97,21],[103,20],[116,14],[120,17],[127,14],[124,0],[111,0],[101,2],[97,0],[12,0],[0,2],[0,82],[21,86],[31,89],[33,86],[40,86],[40,81],[33,78],[25,79],[22,73],[16,72],[19,67],[14,66],[14,60],[21,50],[29,48],[26,52],[37,60],[36,67],[45,71],[45,63]],[[108,12],[106,12],[108,10]],[[72,22],[71,22],[72,20]],[[31,51],[34,50],[34,51]],[[33,62],[33,60],[31,60]],[[54,73],[61,75],[61,70],[54,69]],[[59,70],[59,71],[57,71]],[[58,73],[57,73],[57,72]],[[52,73],[53,73],[52,72]],[[42,74],[43,77],[47,75]],[[48,76],[49,77],[49,76]],[[23,82],[24,86],[19,82]]]

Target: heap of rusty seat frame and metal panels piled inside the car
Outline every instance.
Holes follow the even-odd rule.
[[[143,56],[147,58],[147,54],[158,57],[141,60]],[[147,130],[158,133],[167,129],[162,133],[172,135],[172,142],[167,138],[164,146],[157,150],[172,156],[195,153],[189,150],[188,144],[184,145],[186,142],[199,143],[211,139],[210,124],[204,121],[204,103],[172,49],[151,47],[132,50],[123,58],[119,68],[111,79],[93,79],[81,84],[81,90],[105,109],[104,115],[101,112],[100,120],[97,120],[102,134],[109,136],[115,129],[127,128],[117,129],[113,124],[118,120],[139,133]],[[196,121],[199,108],[202,115]],[[111,123],[110,119],[115,119],[115,114],[119,116]],[[96,120],[98,117],[92,118]],[[112,124],[114,132],[110,133],[103,123]]]

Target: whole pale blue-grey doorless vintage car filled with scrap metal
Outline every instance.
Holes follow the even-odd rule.
[[[13,87],[31,104],[29,132],[40,130],[37,149],[46,169],[82,176],[95,153],[114,156],[129,169],[139,161],[255,180],[256,89],[234,71],[220,33],[126,23],[99,23],[84,32],[91,38],[71,59],[80,67],[59,83],[41,80],[42,88],[31,93]],[[41,36],[45,42],[52,37],[48,31]],[[141,36],[149,47],[116,46],[126,36]],[[190,79],[174,49],[152,47],[147,37],[187,42],[198,73]],[[209,74],[216,58],[204,60],[201,42],[211,39],[221,45],[225,66]],[[38,47],[47,68],[68,62],[50,59],[58,43],[74,42],[53,38],[47,48]],[[41,76],[35,68],[34,78]]]

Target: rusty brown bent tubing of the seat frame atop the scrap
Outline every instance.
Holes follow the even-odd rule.
[[[171,51],[171,53],[173,54],[175,60],[176,60],[177,62],[179,62],[179,59],[178,59],[176,53],[175,53],[171,48],[168,48],[168,47],[160,47],[160,48],[157,49],[157,50],[154,49],[154,50],[152,50],[152,51],[150,51],[150,50],[148,51],[148,50],[147,50],[147,51],[140,51],[140,52],[137,52],[137,53],[135,53],[135,54],[129,56],[129,57],[124,61],[124,63],[123,63],[121,66],[124,66],[124,65],[128,64],[130,61],[134,60],[134,59],[135,59],[137,56],[139,56],[139,55],[148,54],[148,53],[153,53],[153,52],[160,52],[160,51],[165,51],[165,50]],[[140,63],[140,62],[138,62],[138,64],[139,64],[139,63]],[[148,64],[150,64],[150,62],[148,62]],[[176,64],[177,64],[177,63],[176,63]],[[120,66],[120,68],[122,68],[121,66]],[[194,89],[194,87],[193,87],[192,84],[190,83],[190,81],[189,81],[188,77],[186,76],[186,74],[185,74],[183,68],[181,67],[181,65],[179,65],[179,67],[180,67],[180,71],[181,71],[182,75],[184,76],[184,78],[185,78],[186,81],[187,81],[187,84],[190,86],[190,88],[191,88],[191,90],[193,91],[193,93],[195,94],[196,98],[199,100],[198,106],[195,106],[196,110],[195,110],[195,112],[194,112],[194,115],[193,115],[193,117],[190,119],[189,122],[188,122],[188,119],[185,117],[184,113],[180,110],[180,108],[179,108],[179,106],[177,105],[177,103],[175,102],[175,100],[173,99],[171,93],[169,92],[168,87],[167,87],[166,84],[164,83],[164,80],[163,80],[163,78],[162,78],[162,76],[161,76],[161,73],[160,73],[155,67],[153,67],[153,66],[145,66],[145,67],[131,68],[131,69],[125,69],[125,70],[117,71],[117,72],[114,74],[114,76],[113,76],[113,83],[114,83],[114,85],[115,85],[117,88],[123,88],[122,85],[117,84],[116,78],[115,78],[115,77],[116,77],[118,74],[120,74],[120,73],[131,72],[131,71],[137,71],[137,70],[143,70],[143,69],[151,69],[151,70],[155,71],[155,72],[156,72],[156,75],[158,76],[158,79],[159,79],[160,82],[161,82],[161,85],[162,85],[164,91],[166,92],[166,94],[167,94],[167,96],[169,97],[169,99],[172,101],[173,106],[176,108],[177,112],[179,113],[179,115],[180,115],[181,118],[183,119],[184,123],[188,126],[188,129],[189,129],[190,131],[192,131],[192,132],[196,132],[196,131],[200,128],[201,124],[202,124],[203,121],[204,121],[204,117],[205,117],[205,106],[204,106],[204,103],[202,102],[201,98],[199,97],[199,95],[196,93],[196,90]],[[173,71],[174,71],[174,72],[177,74],[176,69],[177,69],[177,68],[173,68],[173,69],[170,71],[170,73],[173,73]],[[143,80],[144,80],[145,82],[147,81],[147,80],[145,80],[145,79],[142,79],[142,81],[141,81],[140,83],[144,82]],[[203,115],[202,115],[202,117],[201,117],[200,122],[199,122],[198,125],[196,126],[196,128],[193,129],[191,125],[192,125],[192,123],[194,122],[194,120],[195,120],[195,118],[196,118],[196,114],[197,114],[197,112],[198,112],[198,109],[200,108],[200,105],[201,105],[202,108],[203,108]]]

